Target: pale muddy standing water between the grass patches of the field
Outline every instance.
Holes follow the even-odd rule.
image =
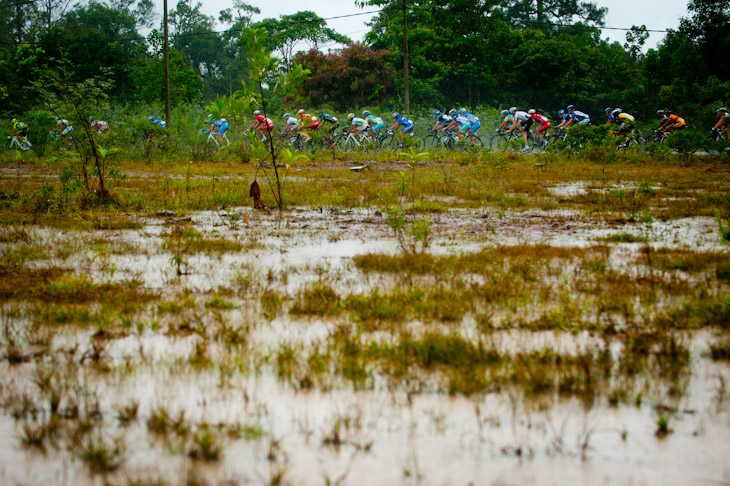
[[[191,215],[191,224],[206,236],[235,239],[250,248],[241,252],[187,255],[188,275],[178,277],[164,246],[169,229],[186,221],[151,218],[140,231],[94,232],[123,241],[136,250],[111,254],[103,262],[93,248],[83,247],[88,234],[37,230],[47,245],[81,245],[66,258],[51,261],[88,273],[97,281],[135,276],[161,298],[187,289],[203,295],[251,274],[256,285],[290,295],[323,275],[339,292],[369,291],[383,284],[365,278],[351,258],[367,252],[396,253],[398,244],[384,216],[375,211],[293,210],[249,214],[231,210],[238,218],[217,212]],[[648,235],[653,244],[670,248],[719,251],[715,222],[692,218],[651,225],[620,225],[589,220],[573,212],[453,211],[429,217],[435,231],[431,251],[456,254],[490,245],[549,244],[590,246],[613,233]],[[641,244],[615,245],[611,265],[631,261]],[[38,264],[43,264],[40,262]],[[116,269],[113,274],[109,265]],[[105,267],[106,265],[106,267]],[[106,268],[106,270],[105,270]],[[270,270],[277,274],[268,279]],[[287,275],[283,278],[282,275]],[[228,315],[232,324],[250,316],[245,310]],[[260,319],[259,319],[260,320]],[[336,320],[336,319],[335,319]],[[23,315],[4,322],[27,324]],[[298,391],[279,380],[267,364],[282,342],[307,346],[324,339],[332,321],[279,316],[258,323],[249,345],[259,365],[243,363],[224,373],[217,366],[191,369],[186,364],[200,338],[166,335],[164,329],[128,331],[108,347],[111,372],[90,365],[76,372],[99,398],[102,430],[124,437],[125,461],[106,477],[90,475],[85,465],[65,448],[46,453],[20,446],[22,421],[0,414],[0,484],[101,485],[271,484],[277,473],[290,484],[382,485],[703,485],[730,483],[730,366],[706,358],[709,333],[691,338],[692,376],[681,399],[657,394],[640,406],[586,407],[577,400],[555,396],[531,399],[522,390],[504,388],[474,397],[439,393],[410,395],[407,386],[389,390],[376,380],[373,390],[357,391],[335,384],[331,390]],[[95,329],[58,330],[54,353],[75,351],[78,362]],[[459,332],[476,333],[465,319]],[[498,332],[497,346],[510,351],[550,348],[573,352],[600,346],[589,333]],[[223,348],[212,346],[214,362],[241,364]],[[227,356],[227,357],[226,357]],[[252,358],[253,359],[253,358]],[[131,363],[133,371],[121,371]],[[263,364],[261,364],[263,363]],[[0,391],[35,392],[35,365],[0,365]],[[139,401],[139,417],[129,427],[114,419],[115,407]],[[173,415],[184,412],[195,428],[203,423],[251,427],[249,438],[225,437],[218,462],[188,458],[187,445],[147,431],[146,420],[160,406]],[[671,433],[657,436],[657,419],[665,415]],[[337,428],[337,424],[339,429]],[[339,430],[338,440],[334,431]],[[172,445],[171,445],[172,444]],[[327,480],[330,483],[327,483]],[[146,481],[146,482],[145,482]]]

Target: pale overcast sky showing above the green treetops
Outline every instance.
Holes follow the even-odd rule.
[[[194,0],[197,1],[197,0]],[[680,17],[687,14],[687,0],[594,0],[600,7],[608,7],[606,27],[629,28],[632,25],[646,25],[650,30],[666,30],[676,28]],[[261,9],[261,14],[254,16],[254,21],[266,17],[278,17],[283,14],[292,14],[300,10],[313,10],[323,18],[343,15],[362,14],[376,10],[376,7],[364,9],[355,6],[353,0],[247,0],[251,5]],[[162,3],[162,2],[160,2]],[[218,17],[218,12],[231,7],[232,0],[203,1],[203,10],[208,15]],[[168,8],[172,9],[176,0],[168,0]],[[160,7],[161,8],[161,7]],[[327,21],[329,27],[353,40],[362,40],[368,27],[365,25],[372,15],[357,15]],[[603,31],[603,37],[623,44],[626,32],[623,30]],[[653,48],[662,41],[663,33],[652,33],[647,41],[646,48]],[[303,44],[301,49],[306,49]]]

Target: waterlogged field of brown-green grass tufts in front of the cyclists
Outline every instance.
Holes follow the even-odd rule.
[[[0,484],[730,484],[729,178],[529,164],[4,169]]]

